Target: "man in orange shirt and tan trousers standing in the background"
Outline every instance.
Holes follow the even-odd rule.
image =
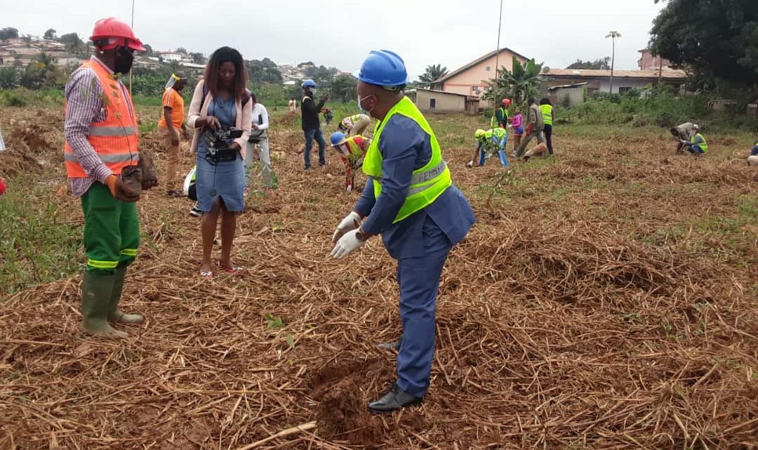
[[[181,137],[189,139],[189,131],[184,123],[184,98],[180,94],[187,85],[187,79],[174,73],[169,83],[170,87],[163,92],[163,114],[161,120],[158,120],[158,130],[166,151],[166,194],[181,197],[182,191],[175,189],[175,186],[179,168],[180,133]]]

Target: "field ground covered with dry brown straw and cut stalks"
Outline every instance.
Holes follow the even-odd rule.
[[[60,114],[23,114],[47,149],[11,132],[36,158],[5,173],[63,180]],[[80,333],[78,277],[2,300],[0,448],[758,448],[758,177],[729,142],[695,161],[658,135],[559,135],[556,161],[503,177],[448,148],[478,223],[443,273],[424,405],[377,417],[395,265],[378,239],[327,258],[357,193],[334,155],[303,173],[299,136],[272,133],[280,186],[240,217],[238,277],[197,277],[189,202],[139,202],[129,339]]]

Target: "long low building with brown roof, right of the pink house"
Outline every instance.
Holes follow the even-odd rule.
[[[590,96],[598,91],[609,92],[610,89],[610,70],[550,69],[543,76],[547,77],[550,87],[587,83],[587,95]],[[659,80],[664,84],[683,86],[686,78],[684,70],[614,70],[613,93],[623,94],[629,89],[643,89],[647,85],[657,84]]]

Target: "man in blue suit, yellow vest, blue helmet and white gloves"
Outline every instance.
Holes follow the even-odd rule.
[[[358,72],[358,103],[378,120],[363,160],[369,177],[358,203],[332,236],[344,258],[381,234],[397,262],[402,337],[381,345],[397,355],[395,385],[368,405],[390,413],[418,405],[429,388],[437,291],[450,249],[474,223],[474,211],[450,177],[440,144],[418,108],[403,95],[406,65],[387,50],[372,51]]]

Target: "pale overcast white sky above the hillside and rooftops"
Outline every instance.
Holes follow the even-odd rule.
[[[185,47],[211,53],[230,45],[246,59],[278,64],[313,61],[356,70],[368,51],[387,48],[406,61],[412,77],[429,64],[449,70],[494,50],[500,0],[135,0],[134,30],[155,50]],[[89,37],[102,17],[130,20],[130,0],[4,0],[0,27],[42,36],[77,32]],[[577,58],[611,54],[617,69],[636,69],[651,23],[662,5],[653,0],[522,0],[503,2],[501,47],[563,68]]]

